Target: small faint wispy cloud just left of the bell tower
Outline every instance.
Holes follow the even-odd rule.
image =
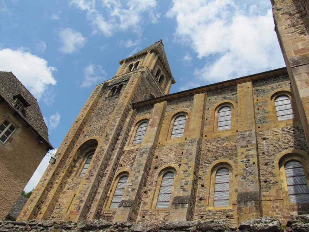
[[[84,80],[81,87],[89,87],[100,84],[106,78],[107,73],[99,65],[90,64],[84,68]]]

